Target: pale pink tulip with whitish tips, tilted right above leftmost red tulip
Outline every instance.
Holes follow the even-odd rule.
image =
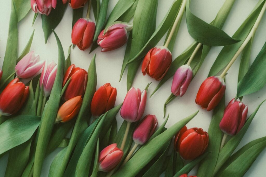
[[[18,78],[30,79],[40,74],[44,61],[40,61],[40,56],[31,51],[23,57],[15,67]]]

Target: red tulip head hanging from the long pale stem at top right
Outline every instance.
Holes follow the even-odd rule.
[[[225,82],[220,76],[208,77],[200,86],[197,93],[196,104],[207,111],[213,110],[225,94]]]

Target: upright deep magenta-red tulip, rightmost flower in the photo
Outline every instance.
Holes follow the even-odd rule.
[[[244,126],[247,114],[248,106],[233,98],[225,108],[220,129],[227,135],[236,135]]]

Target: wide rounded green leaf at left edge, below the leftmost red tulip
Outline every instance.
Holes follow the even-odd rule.
[[[0,154],[28,141],[38,128],[39,123],[40,117],[31,115],[18,115],[2,123],[0,125],[2,135]]]

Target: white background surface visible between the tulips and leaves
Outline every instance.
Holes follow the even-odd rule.
[[[115,6],[118,0],[112,0],[109,3],[108,14],[110,14],[111,10]],[[191,9],[195,15],[205,20],[206,22],[212,21],[220,7],[223,5],[225,0],[204,0],[204,1],[192,1]],[[256,5],[257,0],[236,0],[232,10],[226,20],[226,23],[223,27],[223,30],[232,36],[236,29],[240,26],[240,24],[246,19],[247,15],[251,12],[253,7]],[[9,26],[9,18],[10,18],[10,9],[11,9],[11,1],[0,0],[0,17],[1,17],[1,27],[0,27],[0,57],[1,62],[0,66],[2,67],[7,34],[8,34],[8,26]],[[159,0],[158,10],[157,10],[157,24],[159,25],[160,21],[164,18],[164,15],[168,11],[169,7],[172,4],[172,0]],[[85,8],[86,9],[86,8]],[[85,10],[86,11],[86,10]],[[84,16],[85,16],[84,12]],[[52,34],[47,44],[44,44],[44,36],[41,27],[41,18],[40,15],[35,21],[33,27],[31,27],[32,19],[34,13],[31,11],[25,19],[23,19],[19,25],[19,49],[18,53],[20,54],[26,45],[33,29],[35,29],[34,39],[32,42],[31,50],[34,50],[37,54],[40,55],[41,59],[48,59],[49,61],[54,60],[57,62],[57,44],[55,41],[55,37]],[[264,42],[266,41],[266,15],[264,15],[261,24],[256,32],[256,36],[253,41],[251,60],[253,61],[256,55],[261,50]],[[91,18],[93,18],[93,13],[91,13]],[[59,26],[55,29],[58,34],[61,43],[64,48],[65,55],[67,54],[68,46],[71,44],[71,24],[72,24],[72,9],[70,7],[67,8],[66,13],[59,24]],[[157,44],[157,46],[163,45],[164,38]],[[178,32],[176,44],[174,47],[173,58],[176,58],[178,55],[184,51],[193,42],[192,37],[189,36],[186,27],[185,15],[182,19],[181,26]],[[124,57],[126,45],[120,49],[103,53],[100,48],[97,48],[92,54],[89,54],[89,49],[86,51],[80,51],[77,47],[74,50],[71,50],[71,61],[76,64],[77,67],[85,68],[86,70],[89,67],[89,63],[93,54],[96,52],[96,68],[97,68],[97,88],[101,85],[109,82],[113,87],[117,88],[117,101],[116,105],[123,101],[124,96],[126,95],[126,75],[127,70],[124,73],[122,80],[119,82],[120,70],[122,66],[122,61]],[[170,127],[177,121],[185,118],[186,116],[194,113],[196,110],[200,109],[198,115],[188,123],[188,128],[192,127],[201,127],[205,131],[208,130],[209,123],[211,120],[212,111],[207,112],[200,108],[200,106],[196,105],[195,97],[200,87],[200,84],[204,79],[206,79],[208,72],[210,70],[211,65],[213,64],[215,58],[219,54],[222,47],[213,47],[209,54],[207,55],[202,67],[200,68],[198,74],[193,79],[190,84],[186,94],[182,98],[176,98],[173,102],[168,105],[167,113],[170,113],[170,117],[166,127]],[[237,75],[239,68],[240,58],[236,60],[233,66],[228,71],[227,75],[227,85],[226,85],[226,103],[228,103],[232,98],[235,97],[236,94],[236,84],[237,84]],[[151,79],[149,76],[143,76],[141,70],[139,71],[134,80],[134,87],[139,87],[144,89],[147,83],[152,82],[148,96],[155,89],[158,81]],[[168,98],[169,94],[171,94],[171,83],[172,79],[169,79],[163,87],[161,87],[152,98],[147,100],[147,106],[144,114],[155,114],[158,118],[159,125],[164,121],[163,120],[163,104],[165,100]],[[259,92],[254,94],[244,96],[243,102],[248,104],[249,111],[248,116],[255,110],[257,105],[266,99],[266,87],[264,87]],[[239,144],[237,150],[241,148],[243,145],[248,142],[263,137],[266,135],[265,131],[265,109],[266,104],[264,103],[260,110],[258,111],[256,117],[252,121],[250,128],[248,129],[246,135],[243,140]],[[118,126],[122,123],[123,119],[120,115],[117,115]],[[59,152],[60,149],[57,149],[55,152],[50,154],[44,161],[44,166],[42,170],[42,176],[48,176],[49,166],[55,157],[55,155]],[[256,159],[250,170],[245,174],[245,176],[264,176],[266,173],[265,164],[266,164],[266,151],[264,150],[261,155]],[[5,168],[7,164],[8,156],[5,155],[0,159],[0,176],[4,176]],[[196,175],[196,171],[193,171],[191,174]]]

